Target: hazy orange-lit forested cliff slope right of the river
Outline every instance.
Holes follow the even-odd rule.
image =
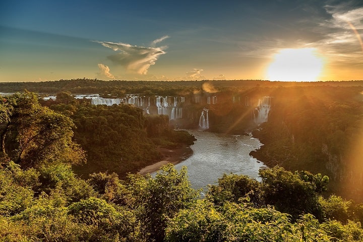
[[[361,201],[362,87],[291,87],[275,97],[268,122],[254,136],[264,144],[252,155],[289,170],[331,177],[329,190]]]

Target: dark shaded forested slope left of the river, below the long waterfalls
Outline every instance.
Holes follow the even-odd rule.
[[[195,138],[186,131],[169,129],[167,116],[144,115],[142,109],[127,104],[91,105],[67,93],[58,95],[73,104],[50,108],[73,120],[74,139],[87,154],[87,166],[74,166],[79,174],[108,171],[125,176],[159,161],[162,156],[157,147],[194,144]]]

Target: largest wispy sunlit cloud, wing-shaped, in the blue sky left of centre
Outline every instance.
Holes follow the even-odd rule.
[[[160,39],[154,40],[153,43],[159,43],[168,37],[163,36]],[[124,66],[128,72],[142,75],[147,74],[150,66],[155,65],[159,56],[166,53],[164,49],[167,48],[167,46],[143,47],[126,43],[96,42],[114,51],[118,51],[116,54],[107,56],[114,64]]]

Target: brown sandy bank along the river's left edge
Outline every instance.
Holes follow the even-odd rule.
[[[147,173],[152,173],[159,170],[162,166],[168,163],[172,163],[175,165],[177,163],[180,163],[181,161],[188,159],[191,155],[193,155],[192,148],[187,145],[183,145],[182,147],[173,150],[160,148],[159,151],[163,155],[164,159],[155,164],[148,165],[142,168],[138,172],[139,174],[145,175]]]

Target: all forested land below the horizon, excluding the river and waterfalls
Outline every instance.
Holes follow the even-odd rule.
[[[0,99],[4,241],[363,240],[362,81],[78,79],[0,83],[0,90],[15,93]],[[57,99],[45,102],[42,93]],[[71,95],[89,93],[218,102],[186,101],[188,116],[169,120]],[[273,103],[268,121],[256,125],[264,96]],[[174,128],[197,128],[193,113],[204,107],[206,132],[252,132],[264,144],[251,152],[270,167],[260,170],[261,181],[224,174],[201,198],[186,168],[136,174],[163,158],[159,149],[192,145],[193,136]]]

